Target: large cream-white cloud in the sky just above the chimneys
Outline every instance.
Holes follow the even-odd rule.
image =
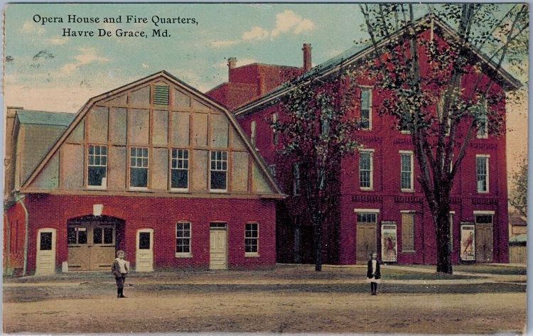
[[[276,26],[272,31],[254,26],[249,31],[242,33],[240,40],[216,40],[210,42],[215,48],[228,47],[248,40],[274,39],[281,33],[294,33],[296,35],[313,30],[315,24],[308,18],[298,16],[294,11],[283,11],[276,14]]]

